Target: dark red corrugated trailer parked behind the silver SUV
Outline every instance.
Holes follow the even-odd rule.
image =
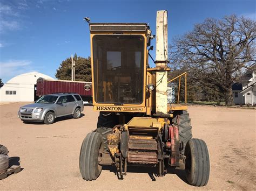
[[[84,89],[84,85],[91,82],[78,82],[68,80],[46,80],[39,78],[37,80],[37,96],[54,93],[76,93],[80,96],[92,96],[92,89]]]

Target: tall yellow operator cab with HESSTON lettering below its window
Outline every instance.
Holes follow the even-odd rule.
[[[140,106],[145,111],[147,24],[90,24],[93,109]],[[98,107],[97,107],[98,105]]]

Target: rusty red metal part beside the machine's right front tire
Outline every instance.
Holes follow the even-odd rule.
[[[167,145],[171,146],[171,166],[177,166],[177,164],[179,163],[179,129],[177,126],[175,125],[170,125],[169,126],[169,138],[171,140],[171,142],[167,142],[169,144],[166,143]]]

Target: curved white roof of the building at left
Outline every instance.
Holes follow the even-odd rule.
[[[44,79],[53,79],[52,77],[39,72],[29,72],[12,77],[12,79],[5,84],[36,84],[39,77],[43,77]]]

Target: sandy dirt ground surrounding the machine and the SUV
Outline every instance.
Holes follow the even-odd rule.
[[[204,139],[211,159],[208,185],[187,184],[183,171],[171,169],[152,178],[147,168],[128,168],[118,180],[114,168],[104,168],[96,181],[85,181],[79,172],[80,146],[95,129],[98,112],[85,107],[80,119],[60,118],[52,125],[24,124],[17,117],[25,103],[0,105],[0,144],[23,170],[0,180],[5,189],[256,189],[256,111],[212,106],[190,106],[194,138]]]

